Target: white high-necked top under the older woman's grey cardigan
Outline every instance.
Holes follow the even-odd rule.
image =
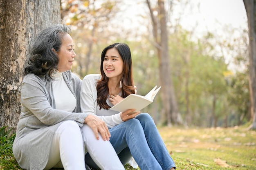
[[[52,77],[56,109],[72,112],[76,107],[76,98],[67,87],[62,72],[57,71]]]

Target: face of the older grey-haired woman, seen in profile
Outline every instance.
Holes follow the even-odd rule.
[[[63,72],[67,70],[71,70],[74,57],[76,57],[76,53],[74,52],[74,43],[69,34],[66,34],[62,38],[62,45],[60,51],[56,52],[59,57],[58,62],[58,71]]]

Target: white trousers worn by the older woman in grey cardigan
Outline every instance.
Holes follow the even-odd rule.
[[[97,140],[87,124],[80,128],[75,121],[64,121],[54,133],[49,159],[44,170],[53,167],[64,170],[85,170],[86,152],[89,152],[102,170],[124,170],[110,141],[103,141],[101,135],[99,136],[100,139]]]

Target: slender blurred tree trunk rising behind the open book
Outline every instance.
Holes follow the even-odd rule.
[[[150,4],[150,1],[146,0],[152,20],[154,36],[153,44],[157,49],[157,56],[159,58],[159,77],[162,86],[162,102],[164,106],[164,116],[162,119],[167,121],[166,123],[168,126],[171,126],[172,123],[182,124],[183,120],[179,112],[171,76],[170,56],[168,48],[168,30],[164,1],[158,0],[157,2],[157,8],[153,8]]]

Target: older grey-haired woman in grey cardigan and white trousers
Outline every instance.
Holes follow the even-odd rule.
[[[51,26],[31,46],[13,155],[26,170],[85,170],[88,151],[101,169],[124,170],[105,122],[81,113],[82,80],[70,71],[76,56],[70,33],[68,26]]]

